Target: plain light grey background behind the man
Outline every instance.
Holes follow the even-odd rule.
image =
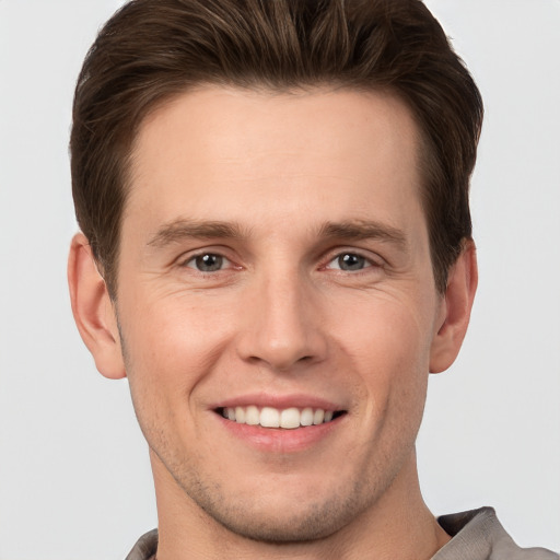
[[[430,0],[487,120],[472,183],[481,282],[431,380],[419,457],[434,513],[491,504],[560,550],[560,2]],[[125,382],[74,328],[72,89],[117,0],[0,0],[0,560],[121,559],[155,526]]]

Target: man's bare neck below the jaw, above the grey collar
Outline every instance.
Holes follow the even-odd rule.
[[[236,535],[196,505],[152,456],[160,544],[158,560],[422,560],[450,540],[424,504],[416,453],[384,494],[338,532],[304,542],[262,542]]]

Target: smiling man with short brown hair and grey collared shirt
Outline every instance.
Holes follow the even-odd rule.
[[[130,559],[558,558],[433,517],[415,440],[477,284],[479,92],[413,0],[137,0],[74,101],[69,279],[128,376]],[[453,538],[452,538],[453,537]]]

